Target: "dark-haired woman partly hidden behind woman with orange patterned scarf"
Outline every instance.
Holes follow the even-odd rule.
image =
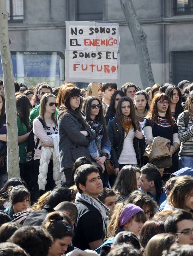
[[[115,93],[112,95],[110,105],[105,115],[106,125],[108,125],[109,120],[115,116],[118,102],[121,99],[121,97],[124,96],[126,96],[126,94],[122,91],[115,91]]]

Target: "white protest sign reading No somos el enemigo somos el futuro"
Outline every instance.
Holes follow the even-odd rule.
[[[65,80],[118,83],[119,24],[66,22]]]

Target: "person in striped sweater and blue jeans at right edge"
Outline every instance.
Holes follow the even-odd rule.
[[[178,136],[181,142],[179,169],[193,168],[193,91],[188,96],[185,109],[178,116]]]

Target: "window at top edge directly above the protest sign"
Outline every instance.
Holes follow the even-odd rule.
[[[103,19],[103,0],[77,0],[77,20],[95,21]]]

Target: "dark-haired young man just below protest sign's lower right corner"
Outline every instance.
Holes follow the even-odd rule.
[[[117,91],[117,84],[103,83],[103,104],[106,105],[106,109],[109,107],[111,97],[115,91]]]

